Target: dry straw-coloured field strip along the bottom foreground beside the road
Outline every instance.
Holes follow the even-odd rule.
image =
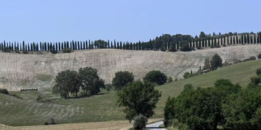
[[[148,123],[158,122],[162,119],[149,119]],[[74,124],[61,124],[61,125],[35,125],[35,126],[22,126],[10,127],[0,124],[0,130],[129,130],[132,123],[128,121],[107,121],[107,122],[90,122],[90,123],[74,123]]]

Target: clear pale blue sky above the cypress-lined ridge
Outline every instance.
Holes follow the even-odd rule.
[[[114,40],[261,31],[260,0],[1,0],[0,42]]]

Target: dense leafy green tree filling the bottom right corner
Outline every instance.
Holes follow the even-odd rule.
[[[257,88],[229,95],[222,105],[225,119],[222,127],[231,130],[260,129],[260,92]]]

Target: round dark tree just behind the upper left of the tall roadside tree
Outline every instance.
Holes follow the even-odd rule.
[[[112,80],[112,85],[115,90],[122,90],[127,83],[134,81],[134,75],[128,71],[118,71],[115,73],[115,77]]]

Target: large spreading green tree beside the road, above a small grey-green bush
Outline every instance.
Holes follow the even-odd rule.
[[[129,82],[121,91],[116,92],[116,103],[119,107],[125,107],[122,111],[131,122],[139,114],[146,118],[153,116],[153,109],[160,97],[161,92],[154,89],[153,83],[137,80]]]

